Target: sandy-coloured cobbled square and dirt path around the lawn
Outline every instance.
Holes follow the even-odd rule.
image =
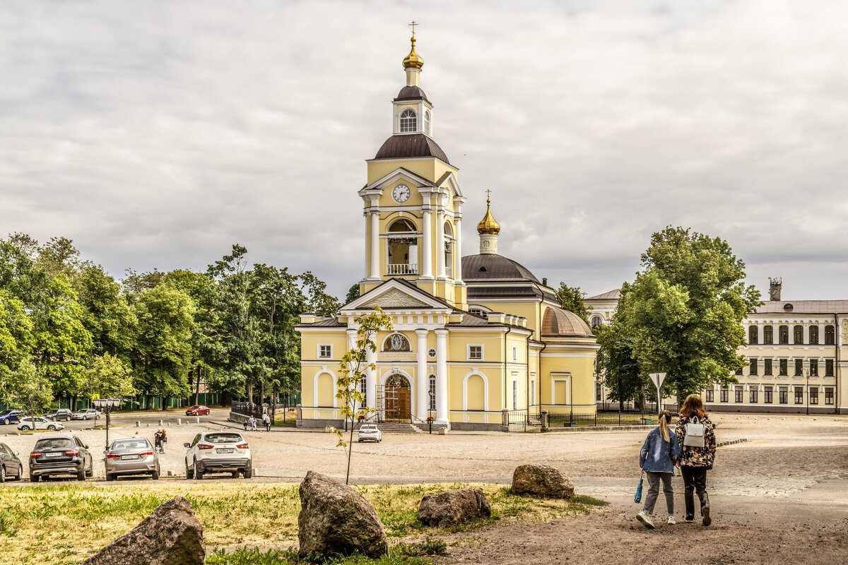
[[[181,416],[114,418],[112,439],[131,435],[142,419],[142,434],[153,438],[158,418],[170,421],[169,443],[161,456],[164,471],[185,476],[183,441],[202,429],[220,429],[226,413],[215,410],[200,424],[176,425]],[[182,417],[185,421],[185,417]],[[194,422],[194,418],[190,418]],[[611,504],[589,517],[553,523],[503,524],[455,536],[449,556],[440,562],[513,563],[532,558],[538,565],[589,562],[608,557],[618,563],[698,560],[708,563],[848,562],[848,417],[714,415],[717,440],[747,441],[719,448],[708,475],[713,525],[683,524],[683,483],[674,479],[676,515],[665,524],[665,502],[657,512],[661,525],[649,531],[634,517],[639,480],[639,447],[644,431],[550,434],[385,435],[382,443],[354,443],[351,475],[355,482],[510,482],[522,463],[547,463],[566,473],[577,492]],[[148,424],[150,426],[148,427]],[[72,423],[70,428],[90,427]],[[0,441],[24,457],[31,435]],[[14,433],[11,426],[9,432]],[[80,429],[92,446],[98,484],[103,481],[105,439],[102,429]],[[274,430],[247,432],[259,482],[298,481],[308,470],[343,477],[345,457],[334,435]],[[354,435],[355,438],[355,435]],[[221,479],[243,480],[243,479]],[[518,556],[521,556],[519,558]]]

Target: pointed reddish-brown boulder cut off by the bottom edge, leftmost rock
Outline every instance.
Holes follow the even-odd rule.
[[[182,496],[165,501],[84,565],[203,565],[204,527]]]

